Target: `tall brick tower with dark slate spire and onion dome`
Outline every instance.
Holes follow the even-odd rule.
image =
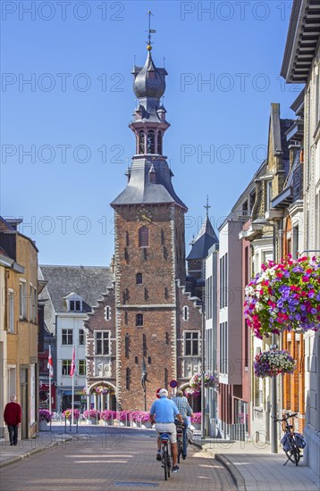
[[[115,229],[116,387],[122,409],[149,409],[159,387],[177,379],[179,294],[185,284],[185,204],[175,194],[163,153],[169,128],[161,97],[164,68],[147,46],[143,67],[133,68],[139,102],[130,128],[136,153],[128,182],[111,204]],[[178,281],[179,280],[179,281]],[[141,378],[146,375],[146,392]]]

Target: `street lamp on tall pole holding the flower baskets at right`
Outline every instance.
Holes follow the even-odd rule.
[[[275,223],[274,221],[267,221],[265,218],[257,218],[252,222],[253,228],[258,229],[259,226],[262,227],[272,227],[273,228],[273,261],[276,262],[276,237],[275,237]],[[276,335],[272,333],[271,335],[271,349],[276,347]],[[273,454],[278,454],[278,437],[277,437],[277,422],[275,418],[277,417],[277,378],[273,377],[271,380],[271,452]]]

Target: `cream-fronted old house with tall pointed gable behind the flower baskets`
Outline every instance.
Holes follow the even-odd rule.
[[[254,277],[261,265],[282,257],[282,212],[275,210],[274,196],[282,194],[291,168],[290,141],[286,133],[293,121],[282,120],[280,104],[271,104],[269,119],[268,149],[265,166],[256,179],[256,201],[249,221],[240,231],[239,237],[250,246],[250,259],[247,265],[249,275]],[[245,320],[244,320],[245,322]],[[269,349],[271,337],[263,340],[251,335],[251,387],[250,387],[250,429],[254,440],[269,441],[271,431],[271,381],[257,379],[252,371],[252,361],[256,354]],[[277,380],[277,407],[281,409],[281,380]]]

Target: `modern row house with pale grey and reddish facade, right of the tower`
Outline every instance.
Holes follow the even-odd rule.
[[[256,181],[265,171],[260,166],[248,187],[232,207],[219,228],[216,290],[216,359],[219,376],[217,421],[220,433],[226,437],[234,425],[250,433],[250,333],[243,320],[244,287],[250,275],[250,246],[239,234],[256,204]],[[207,262],[210,257],[207,258]]]

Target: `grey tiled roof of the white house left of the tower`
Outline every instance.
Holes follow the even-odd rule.
[[[111,269],[100,266],[40,265],[40,270],[47,281],[46,289],[55,312],[67,312],[65,296],[71,293],[80,295],[84,300],[84,312],[90,312],[114,280]]]

